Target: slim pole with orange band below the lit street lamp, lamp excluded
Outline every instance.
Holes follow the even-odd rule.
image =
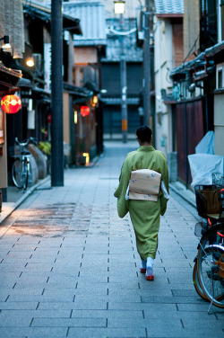
[[[124,29],[124,18],[121,14],[121,28]],[[120,56],[120,79],[121,79],[121,126],[123,142],[127,141],[127,104],[126,104],[126,60],[124,38],[121,37],[121,56]]]

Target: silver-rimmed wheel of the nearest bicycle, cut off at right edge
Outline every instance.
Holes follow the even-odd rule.
[[[197,257],[198,280],[204,295],[224,308],[224,225],[211,227],[202,236]]]

